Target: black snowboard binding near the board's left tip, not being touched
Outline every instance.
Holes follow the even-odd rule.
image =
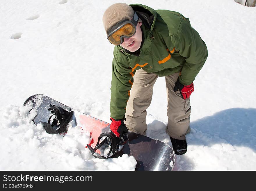
[[[67,124],[70,122],[74,111],[66,111],[65,109],[50,105],[48,111],[51,111],[52,115],[49,117],[48,122],[42,122],[38,120],[45,128],[46,133],[49,134],[62,134],[67,133]]]

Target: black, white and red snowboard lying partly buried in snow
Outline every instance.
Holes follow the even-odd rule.
[[[35,124],[40,124],[39,121],[48,121],[49,116],[51,115],[51,112],[48,111],[50,105],[60,106],[67,111],[74,111],[72,122],[75,122],[75,124],[72,124],[72,128],[82,128],[83,130],[90,132],[91,142],[89,145],[93,148],[97,143],[99,135],[103,132],[110,131],[109,123],[79,112],[43,94],[32,95],[26,99],[24,105],[26,104],[31,104],[32,109],[36,110],[37,112],[36,117],[33,119]],[[128,154],[128,156],[133,156],[136,159],[137,164],[135,170],[139,171],[172,170],[175,163],[175,152],[170,145],[161,142],[160,140],[131,131],[129,131],[128,140],[123,145],[122,149],[113,154],[111,157],[117,158],[125,153]]]

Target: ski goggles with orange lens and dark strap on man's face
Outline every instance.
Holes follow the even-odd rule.
[[[139,17],[134,11],[132,20],[124,20],[113,26],[108,33],[107,39],[114,45],[120,45],[124,42],[124,38],[130,38],[136,33],[136,26]]]

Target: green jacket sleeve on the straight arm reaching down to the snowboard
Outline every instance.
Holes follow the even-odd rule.
[[[117,60],[114,56],[110,100],[110,117],[113,119],[123,119],[125,116],[134,74],[128,60]]]

